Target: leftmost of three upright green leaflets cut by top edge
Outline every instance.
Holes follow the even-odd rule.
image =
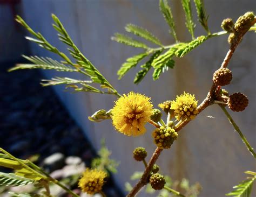
[[[172,16],[172,11],[170,6],[167,3],[167,0],[160,0],[159,8],[160,8],[160,11],[163,13],[166,23],[170,26],[171,35],[176,40],[176,42],[178,42],[176,30],[175,30],[175,23]]]

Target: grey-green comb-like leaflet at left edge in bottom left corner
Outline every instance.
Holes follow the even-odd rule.
[[[19,177],[14,173],[0,172],[0,185],[3,186],[22,186],[35,182],[34,180]]]

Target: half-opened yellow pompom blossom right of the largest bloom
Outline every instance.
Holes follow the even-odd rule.
[[[198,114],[197,102],[194,95],[184,92],[176,97],[176,101],[172,101],[171,109],[174,110],[174,115],[178,120],[193,119]]]

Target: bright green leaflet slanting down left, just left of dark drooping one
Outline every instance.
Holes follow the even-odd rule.
[[[128,58],[117,72],[117,75],[119,76],[118,79],[121,79],[132,67],[135,67],[138,64],[138,62],[145,58],[147,55],[149,55],[149,53],[146,52]]]

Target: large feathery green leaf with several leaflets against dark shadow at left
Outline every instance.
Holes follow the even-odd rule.
[[[70,38],[68,32],[64,29],[62,23],[60,23],[59,19],[52,15],[52,19],[55,22],[53,27],[58,32],[59,39],[66,45],[68,45],[68,50],[72,57],[76,60],[76,62],[72,62],[66,54],[60,52],[55,46],[52,46],[41,33],[36,33],[31,29],[31,27],[25,23],[25,21],[17,16],[16,20],[18,23],[23,25],[33,36],[36,38],[26,37],[30,41],[37,43],[39,46],[45,48],[48,51],[58,54],[63,61],[56,61],[50,58],[39,58],[39,57],[27,57],[23,55],[23,57],[33,64],[18,64],[14,68],[9,69],[9,71],[15,71],[17,69],[32,69],[32,68],[41,68],[41,69],[55,69],[57,71],[65,71],[65,72],[79,72],[86,76],[88,76],[91,81],[81,81],[76,80],[72,81],[69,78],[54,78],[51,80],[44,80],[42,83],[43,86],[54,86],[60,84],[69,84],[72,83],[80,83],[82,88],[74,88],[75,91],[85,91],[85,92],[94,92],[94,93],[107,93],[114,94],[116,96],[120,96],[116,89],[107,81],[104,76],[98,71],[98,69],[79,51],[78,47],[73,43]],[[71,80],[71,81],[70,81]],[[92,85],[88,85],[87,83],[98,83],[100,88],[107,89],[107,91],[100,90]]]

